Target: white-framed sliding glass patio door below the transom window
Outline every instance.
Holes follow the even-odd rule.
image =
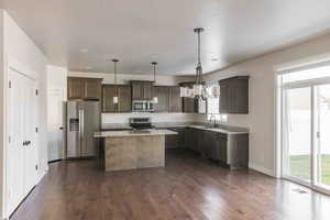
[[[283,86],[283,176],[330,190],[330,81],[324,81]]]

